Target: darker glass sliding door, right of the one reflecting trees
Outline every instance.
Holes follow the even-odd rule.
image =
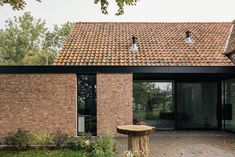
[[[177,83],[177,128],[217,128],[217,83]]]

